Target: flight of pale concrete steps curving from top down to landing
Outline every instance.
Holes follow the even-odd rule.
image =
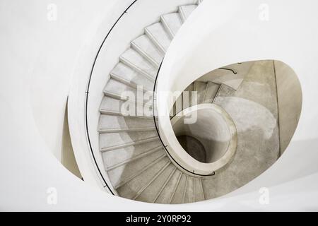
[[[185,174],[167,157],[155,128],[152,96],[131,100],[123,95],[131,93],[137,97],[141,89],[145,97],[146,92],[153,90],[170,42],[196,6],[179,6],[179,11],[160,16],[159,23],[145,28],[144,34],[132,40],[131,47],[119,57],[105,86],[98,128],[100,151],[112,186],[124,198],[149,203],[205,199],[201,177]],[[209,97],[216,95],[206,90]],[[206,98],[204,101],[211,102]],[[131,105],[135,111],[123,110]]]

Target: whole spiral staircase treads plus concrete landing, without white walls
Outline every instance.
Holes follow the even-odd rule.
[[[230,119],[236,127],[235,133],[230,132],[231,145],[223,145],[232,150],[228,155],[231,157],[222,160],[224,164],[213,174],[195,174],[182,167],[160,137],[154,92],[160,66],[170,42],[199,4],[201,1],[179,6],[178,11],[164,14],[159,22],[144,28],[143,35],[129,43],[110,71],[99,109],[98,133],[103,164],[100,168],[105,169],[115,195],[148,203],[204,201],[247,184],[281,156],[274,61],[250,61],[216,69],[192,81],[173,100],[172,126],[180,112],[202,104],[216,106],[234,119]],[[221,133],[212,127],[210,131]],[[178,137],[183,150],[194,159],[199,160],[194,155],[200,152],[194,149],[201,147],[201,153],[205,153],[196,138]],[[188,141],[194,145],[193,150],[185,148]],[[218,142],[211,150],[214,153],[218,152]],[[233,157],[237,150],[239,153]]]

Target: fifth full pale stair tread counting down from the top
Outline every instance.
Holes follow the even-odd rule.
[[[146,76],[148,79],[155,81],[155,76],[157,76],[156,69],[149,61],[147,61],[141,54],[136,52],[136,50],[129,48],[120,57],[120,61],[131,69],[138,71],[139,73]]]

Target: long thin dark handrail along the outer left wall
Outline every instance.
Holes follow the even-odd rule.
[[[96,64],[96,61],[98,59],[98,55],[100,54],[100,50],[102,49],[102,46],[104,45],[104,43],[106,42],[107,40],[107,37],[110,35],[110,33],[112,32],[112,30],[114,29],[114,27],[117,25],[117,23],[119,22],[119,20],[122,18],[122,16],[124,16],[124,14],[127,13],[127,11],[129,10],[129,8],[131,8],[131,6],[133,6],[136,1],[138,0],[134,0],[126,9],[125,11],[119,16],[119,18],[117,18],[117,20],[115,21],[115,23],[112,25],[112,27],[110,28],[110,30],[107,32],[107,35],[105,36],[104,40],[102,41],[102,44],[100,44],[100,48],[98,49],[98,52],[95,56],[95,59],[94,59],[94,62],[93,62],[93,66],[92,66],[92,69],[90,70],[90,76],[88,78],[88,85],[87,85],[87,88],[86,88],[86,96],[85,96],[85,126],[86,126],[86,136],[87,136],[87,139],[88,139],[88,145],[90,147],[90,153],[92,154],[93,156],[93,160],[95,162],[95,166],[97,167],[98,169],[98,173],[100,174],[100,177],[102,178],[102,181],[106,184],[104,187],[107,186],[107,189],[112,193],[112,195],[114,195],[114,191],[112,191],[111,187],[107,184],[105,178],[102,176],[102,172],[100,171],[100,167],[98,167],[98,163],[96,161],[96,158],[95,158],[95,155],[94,155],[94,152],[93,152],[93,148],[92,148],[92,145],[90,143],[90,133],[88,132],[88,95],[89,95],[89,90],[90,90],[90,81],[91,81],[91,78],[93,76],[93,71],[94,71],[94,67],[95,67],[95,64]]]

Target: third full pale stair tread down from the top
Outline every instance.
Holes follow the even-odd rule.
[[[162,23],[155,23],[145,28],[146,35],[151,41],[160,49],[163,54],[167,52],[167,48],[170,46],[171,39]]]

